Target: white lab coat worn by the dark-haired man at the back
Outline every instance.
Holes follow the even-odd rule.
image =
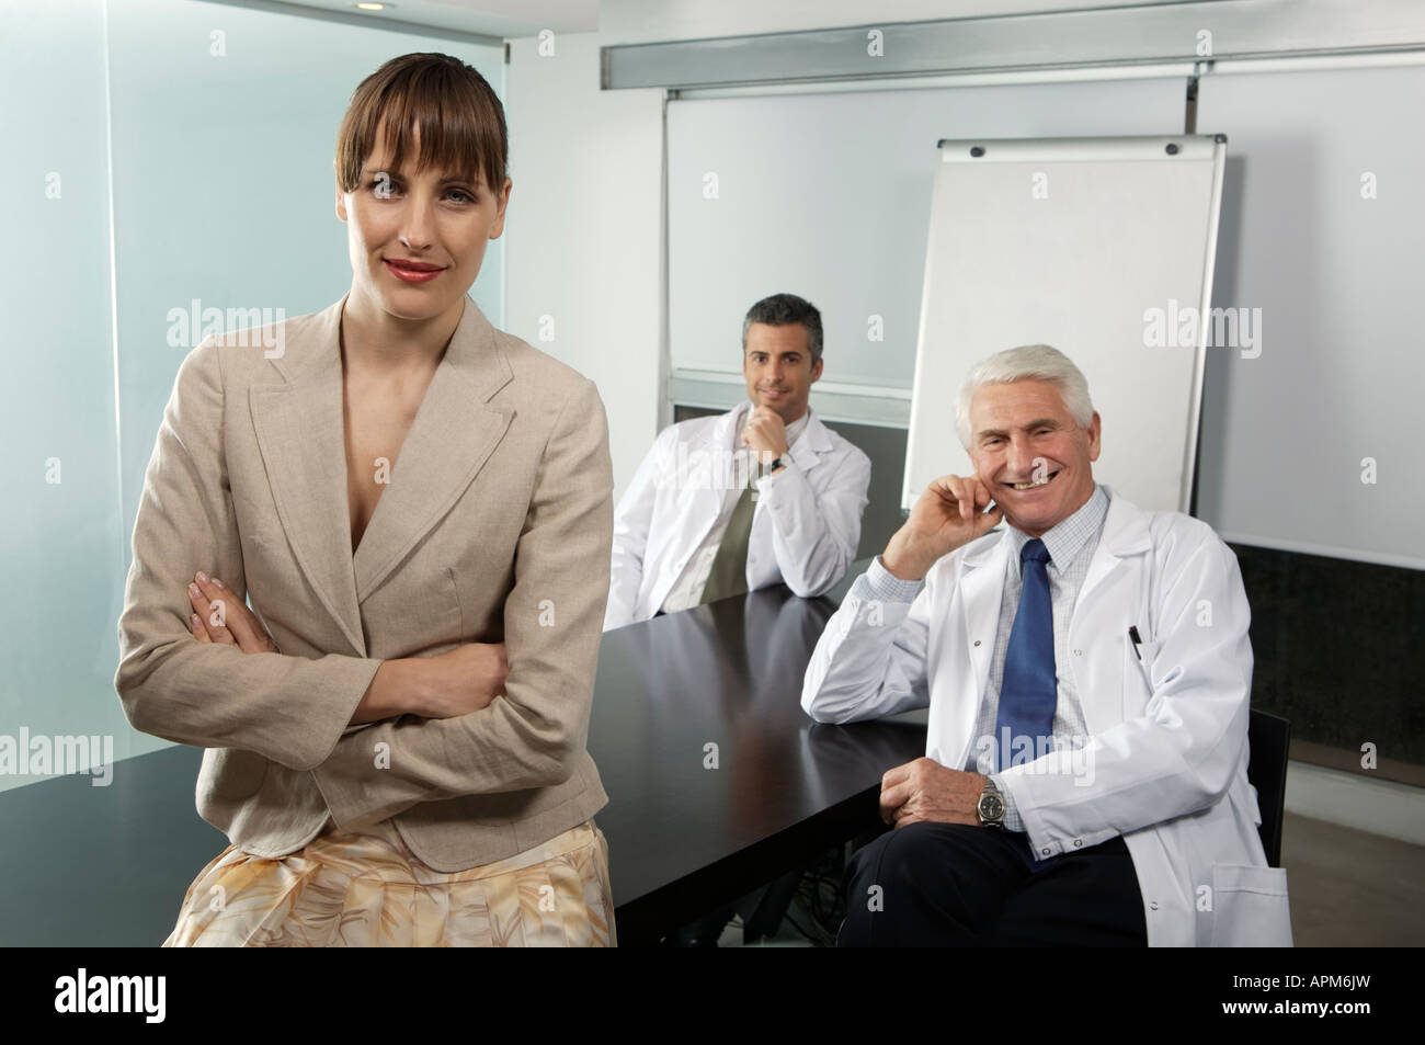
[[[730,489],[741,408],[670,425],[614,512],[604,630],[648,620],[712,529]],[[747,587],[785,582],[804,599],[846,575],[861,543],[871,459],[812,413],[784,470],[757,480]]]

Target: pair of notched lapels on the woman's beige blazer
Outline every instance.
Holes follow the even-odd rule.
[[[475,479],[513,418],[489,399],[512,378],[494,329],[469,298],[390,469],[355,559],[346,499],[341,316],[343,297],[288,335],[282,385],[249,393],[278,519],[312,587],[366,654],[361,603]]]

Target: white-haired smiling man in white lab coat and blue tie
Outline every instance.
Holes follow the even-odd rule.
[[[1247,783],[1235,556],[1093,480],[1100,419],[1053,348],[983,361],[958,423],[975,473],[931,483],[804,683],[818,721],[931,709],[839,942],[1290,947]]]

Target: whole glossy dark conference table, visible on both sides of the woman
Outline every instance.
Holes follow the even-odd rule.
[[[881,777],[925,753],[925,714],[828,726],[799,704],[865,565],[819,599],[778,585],[604,633],[589,750],[621,947],[881,825]],[[201,757],[175,746],[117,763],[108,787],[73,776],[0,793],[0,944],[162,942],[228,844],[194,808]]]

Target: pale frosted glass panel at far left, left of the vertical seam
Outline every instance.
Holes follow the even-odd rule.
[[[101,13],[0,1],[0,736],[24,751],[0,790],[38,778],[30,737],[108,736],[115,758],[130,737]]]

